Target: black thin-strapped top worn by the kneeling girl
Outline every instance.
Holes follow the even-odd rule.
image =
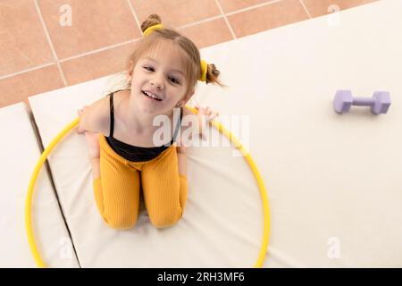
[[[154,159],[173,144],[174,140],[176,139],[177,133],[180,129],[180,122],[181,117],[183,115],[183,108],[180,108],[180,120],[176,124],[176,128],[174,130],[171,142],[166,143],[165,145],[160,147],[137,147],[113,138],[113,129],[114,129],[113,94],[114,92],[110,94],[110,134],[109,137],[105,137],[105,139],[109,144],[109,146],[112,147],[114,152],[116,152],[118,155],[122,156],[126,160],[133,162],[142,162]]]

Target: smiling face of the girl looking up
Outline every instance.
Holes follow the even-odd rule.
[[[188,82],[181,65],[180,47],[162,40],[139,58],[131,81],[131,97],[147,114],[168,114],[185,99]],[[155,98],[152,98],[155,97]]]

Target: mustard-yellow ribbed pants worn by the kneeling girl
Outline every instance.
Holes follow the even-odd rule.
[[[177,223],[186,205],[188,184],[179,173],[176,146],[146,162],[132,162],[114,152],[99,136],[100,177],[93,181],[96,206],[105,223],[126,230],[137,222],[139,189],[152,224],[157,228]]]

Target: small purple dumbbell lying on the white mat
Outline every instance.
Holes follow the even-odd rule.
[[[333,108],[339,114],[348,113],[350,106],[372,106],[373,114],[386,114],[390,105],[388,91],[375,91],[373,97],[352,97],[350,90],[338,90],[333,98]]]

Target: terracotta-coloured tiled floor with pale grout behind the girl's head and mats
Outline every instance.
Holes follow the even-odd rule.
[[[373,1],[2,0],[0,107],[123,71],[151,13],[201,48]]]

